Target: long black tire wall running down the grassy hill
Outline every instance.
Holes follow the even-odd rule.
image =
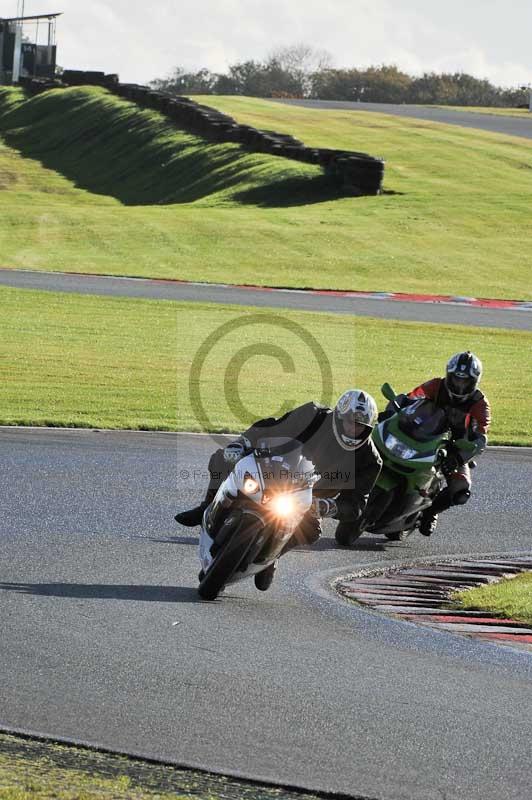
[[[252,152],[316,164],[335,179],[342,194],[377,195],[382,192],[385,162],[381,158],[349,150],[306,147],[287,134],[239,125],[227,114],[188,97],[156,92],[149,86],[136,83],[120,83],[118,75],[68,69],[61,75],[61,80],[21,78],[19,83],[31,94],[68,86],[102,86],[142,108],[159,111],[177,127],[211,142],[235,142]]]

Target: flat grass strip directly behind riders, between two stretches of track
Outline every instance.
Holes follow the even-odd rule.
[[[382,407],[385,380],[408,389],[470,348],[491,442],[532,444],[532,333],[8,288],[0,304],[3,424],[235,431],[353,385]]]

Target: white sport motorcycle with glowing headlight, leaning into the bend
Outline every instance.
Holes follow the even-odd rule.
[[[272,567],[311,508],[319,477],[294,439],[259,441],[235,464],[203,515],[200,597],[215,600],[228,584]]]

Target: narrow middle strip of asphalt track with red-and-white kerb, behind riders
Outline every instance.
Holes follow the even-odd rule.
[[[322,311],[384,319],[415,320],[440,324],[532,329],[529,309],[490,309],[447,303],[403,302],[312,294],[298,290],[264,290],[230,285],[179,283],[143,278],[113,278],[0,268],[0,285],[52,292],[250,305],[261,308]]]

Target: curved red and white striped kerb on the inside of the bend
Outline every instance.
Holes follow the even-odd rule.
[[[462,609],[454,592],[532,570],[532,556],[465,558],[340,578],[335,587],[349,600],[439,630],[512,645],[532,652],[532,627],[488,611]]]

